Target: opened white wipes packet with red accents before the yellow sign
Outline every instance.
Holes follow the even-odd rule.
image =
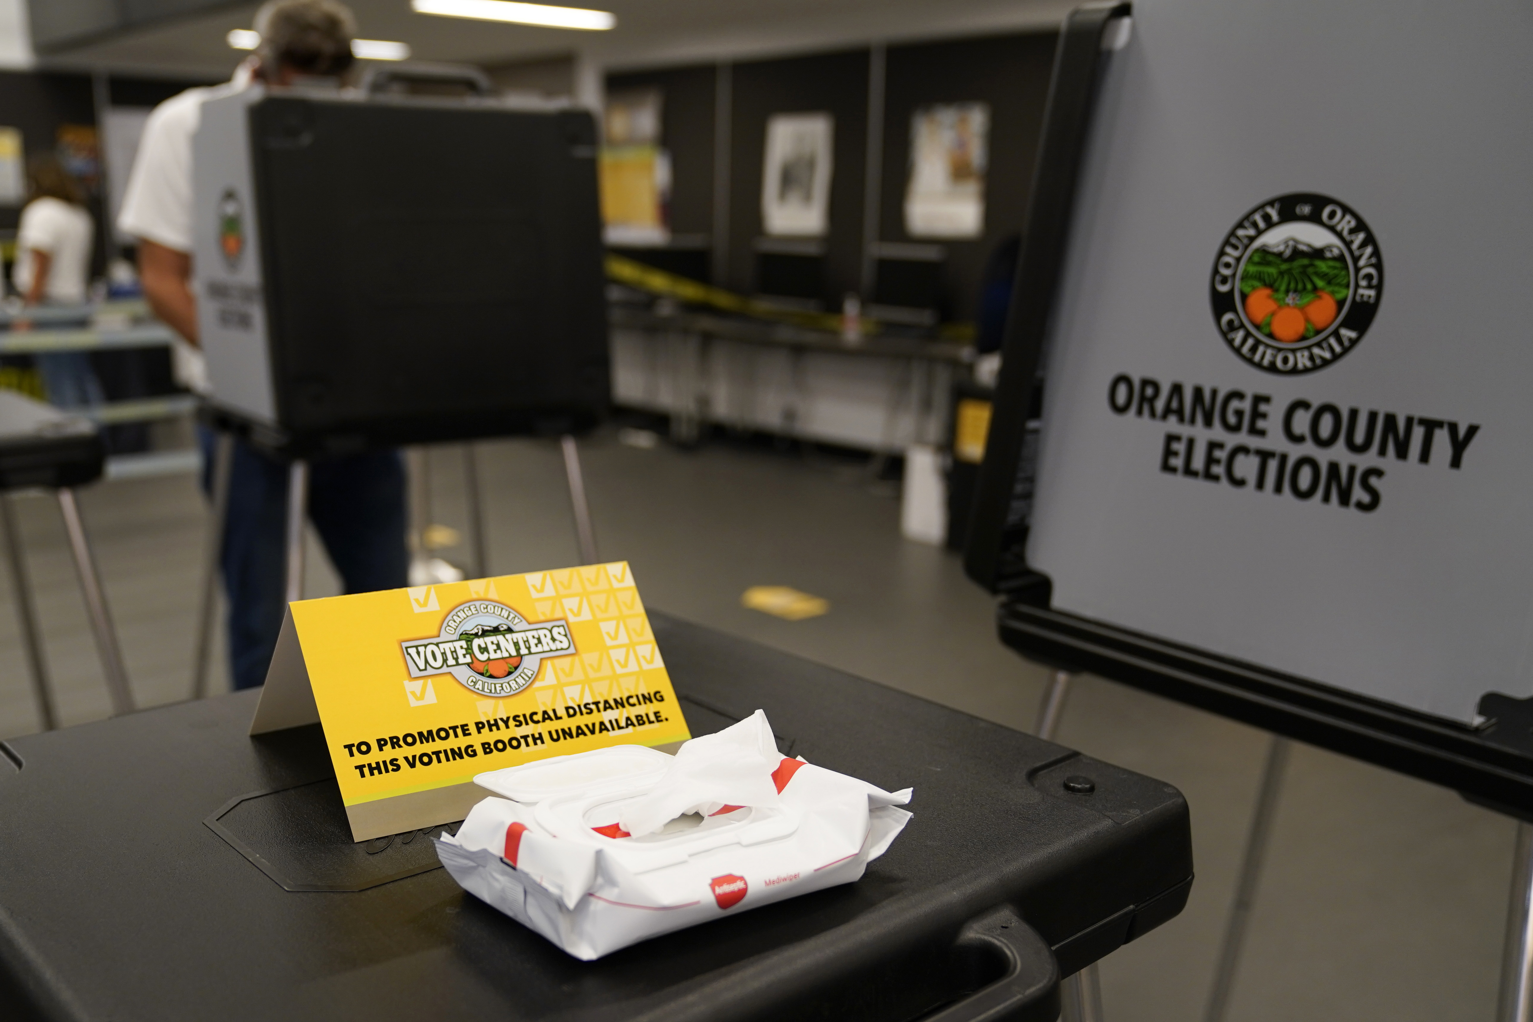
[[[862,878],[912,794],[785,758],[759,709],[675,757],[625,745],[474,780],[504,797],[437,838],[442,864],[586,961]]]

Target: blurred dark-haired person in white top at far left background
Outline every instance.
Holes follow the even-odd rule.
[[[80,184],[57,156],[37,156],[26,167],[26,192],[11,285],[26,305],[83,305],[95,224],[86,211]],[[31,323],[17,320],[14,328],[29,329]],[[34,359],[54,405],[84,408],[106,400],[90,352],[55,351]]]

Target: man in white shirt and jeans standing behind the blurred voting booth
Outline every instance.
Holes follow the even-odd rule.
[[[138,237],[138,273],[155,314],[187,346],[179,372],[207,392],[198,343],[192,208],[192,136],[202,103],[261,83],[342,77],[353,63],[351,12],[331,0],[276,0],[256,14],[261,44],[233,80],[189,89],[155,107],[144,124],[118,227]],[[212,222],[212,221],[208,221]],[[276,253],[281,257],[281,253]],[[199,427],[202,487],[215,437]],[[219,565],[228,593],[228,654],[235,688],[265,682],[284,614],[288,466],[236,438],[228,516]],[[405,469],[397,450],[319,458],[310,463],[308,515],[348,593],[400,588],[408,581]]]

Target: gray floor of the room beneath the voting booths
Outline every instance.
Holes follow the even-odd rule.
[[[495,573],[567,565],[573,533],[556,447],[484,444]],[[586,446],[604,558],[625,558],[652,607],[831,663],[1013,728],[1030,728],[1046,673],[995,639],[986,595],[957,559],[898,535],[898,501],[852,466],[713,446]],[[432,516],[463,526],[461,457],[431,457]],[[202,503],[192,477],[109,483],[81,495],[143,705],[187,696],[199,596]],[[48,496],[17,501],[64,723],[107,714]],[[448,552],[461,559],[464,552]],[[748,585],[823,596],[788,622],[744,610]],[[310,558],[308,595],[336,591]],[[0,587],[0,735],[37,728]],[[215,685],[227,685],[219,665]],[[1059,740],[1177,785],[1193,806],[1197,883],[1187,912],[1102,967],[1107,1013],[1202,1016],[1266,737],[1087,677]],[[918,811],[918,807],[917,807]],[[1444,1022],[1495,1013],[1513,826],[1452,792],[1306,746],[1283,791],[1231,1019]]]

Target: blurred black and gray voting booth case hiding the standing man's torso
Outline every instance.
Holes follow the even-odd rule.
[[[202,106],[213,403],[294,447],[569,432],[607,406],[586,112],[250,89]]]

